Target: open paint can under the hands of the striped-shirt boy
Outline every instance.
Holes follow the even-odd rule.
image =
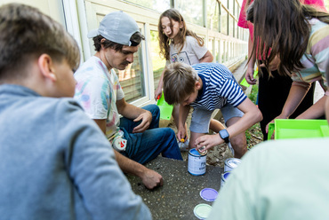
[[[206,169],[206,154],[201,155],[197,152],[196,148],[189,150],[189,173],[194,176],[205,174]]]

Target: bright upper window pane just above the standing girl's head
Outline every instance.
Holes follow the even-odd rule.
[[[203,0],[193,0],[193,4],[184,0],[177,0],[175,3],[177,4],[177,10],[181,12],[185,21],[204,26]]]

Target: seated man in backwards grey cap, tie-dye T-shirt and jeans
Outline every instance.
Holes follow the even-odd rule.
[[[138,51],[144,36],[131,16],[110,12],[88,37],[92,38],[96,53],[76,71],[75,98],[117,150],[116,161],[125,173],[140,177],[148,189],[163,185],[160,174],[141,164],[159,153],[182,160],[175,134],[169,128],[158,128],[160,112],[156,105],[139,108],[125,102],[113,70],[124,70],[133,62],[133,53]]]

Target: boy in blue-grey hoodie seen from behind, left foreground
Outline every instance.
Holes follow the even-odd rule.
[[[80,60],[72,36],[23,4],[0,7],[0,33],[1,218],[150,219],[72,98]]]

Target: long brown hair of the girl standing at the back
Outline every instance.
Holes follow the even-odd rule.
[[[175,20],[179,23],[182,22],[182,24],[183,24],[183,27],[181,27],[181,30],[177,34],[179,36],[179,37],[177,37],[178,40],[176,40],[174,42],[176,45],[180,45],[179,52],[181,52],[181,49],[184,46],[187,35],[190,35],[190,36],[193,36],[194,38],[196,38],[197,43],[200,46],[204,45],[204,39],[202,39],[200,36],[198,36],[193,31],[190,31],[189,29],[187,29],[185,20],[181,16],[181,13],[178,12],[176,9],[173,9],[173,8],[168,9],[160,15],[159,23],[157,25],[158,40],[159,40],[159,46],[160,46],[160,54],[162,54],[164,56],[164,59],[167,59],[167,60],[169,59],[169,52],[170,52],[169,45],[171,43],[171,40],[169,39],[168,36],[164,35],[163,29],[162,29],[161,19],[164,18],[164,17],[167,17],[171,21]],[[173,25],[172,25],[172,28],[173,28]]]

